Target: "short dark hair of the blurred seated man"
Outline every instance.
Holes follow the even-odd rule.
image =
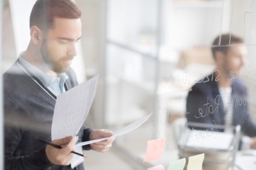
[[[220,41],[220,44],[219,44]],[[217,51],[223,52],[226,54],[229,49],[229,45],[234,44],[243,44],[243,38],[239,37],[239,35],[234,34],[222,34],[215,38],[213,41],[211,52],[213,53],[213,57],[215,59],[215,54]]]

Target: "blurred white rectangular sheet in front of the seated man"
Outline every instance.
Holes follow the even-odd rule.
[[[192,130],[187,138],[186,147],[228,150],[233,136],[232,133]]]

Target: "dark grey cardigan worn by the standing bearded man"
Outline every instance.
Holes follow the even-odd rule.
[[[71,69],[67,75],[69,90],[78,83]],[[4,73],[5,169],[71,169],[49,162],[46,145],[38,141],[51,141],[54,106],[55,100],[22,70],[17,61]],[[91,131],[82,127],[78,136],[88,141]],[[83,170],[83,164],[76,169]]]

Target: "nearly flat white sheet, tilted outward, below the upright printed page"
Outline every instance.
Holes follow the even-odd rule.
[[[113,135],[108,137],[108,138],[101,138],[101,139],[95,139],[95,140],[92,140],[92,141],[81,142],[80,144],[76,144],[76,147],[93,144],[93,143],[96,143],[96,142],[104,141],[105,139],[110,139],[110,138],[114,138],[114,137],[117,137],[117,136],[125,135],[126,133],[130,133],[133,130],[136,130],[137,128],[142,126],[143,123],[148,121],[148,119],[149,119],[149,117],[151,117],[151,115],[152,114],[146,115],[145,117],[140,118],[140,120],[137,120],[136,122],[131,123],[128,126],[123,127],[122,129],[116,130],[116,132],[114,132]]]

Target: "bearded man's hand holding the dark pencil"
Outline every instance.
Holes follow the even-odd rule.
[[[61,145],[63,148],[54,148],[51,145],[47,145],[45,148],[46,156],[51,163],[55,165],[69,165],[73,154],[71,151],[74,149],[76,143],[76,137],[66,137],[52,141],[52,144]]]

